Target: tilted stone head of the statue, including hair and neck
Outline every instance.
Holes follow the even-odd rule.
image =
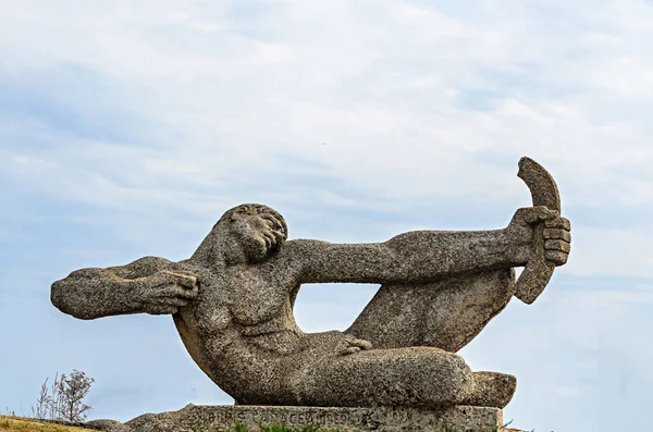
[[[244,203],[224,212],[193,258],[259,262],[279,249],[287,235],[285,220],[278,211],[260,203]]]

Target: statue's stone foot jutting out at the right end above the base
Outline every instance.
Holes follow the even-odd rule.
[[[460,405],[503,408],[513,398],[517,379],[498,372],[473,372],[475,388]]]

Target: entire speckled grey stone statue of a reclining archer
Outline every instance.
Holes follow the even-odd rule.
[[[513,295],[534,300],[567,261],[569,222],[531,162],[522,160],[520,176],[535,206],[517,210],[505,229],[408,232],[377,244],[286,240],[280,213],[242,205],[187,260],[77,270],[52,284],[51,299],[85,320],[172,314],[193,359],[244,405],[502,408],[515,378],[472,372],[455,353]],[[544,206],[537,196],[558,201]],[[535,260],[529,273],[545,281],[520,288],[513,269]],[[329,282],[382,286],[345,332],[304,333],[293,317],[297,292]]]

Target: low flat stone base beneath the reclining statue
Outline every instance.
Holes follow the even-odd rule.
[[[447,409],[405,407],[319,408],[278,406],[195,406],[178,411],[146,414],[127,423],[115,425],[112,432],[192,432],[233,429],[236,422],[258,431],[259,424],[279,423],[301,429],[320,425],[345,431],[442,432],[449,427],[456,432],[490,432],[503,424],[503,411],[497,408],[456,406]],[[197,430],[197,429],[196,429]]]

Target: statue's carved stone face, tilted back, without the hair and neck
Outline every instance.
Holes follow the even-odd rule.
[[[272,214],[236,212],[232,215],[230,229],[245,258],[250,262],[263,260],[285,239],[280,221]]]

